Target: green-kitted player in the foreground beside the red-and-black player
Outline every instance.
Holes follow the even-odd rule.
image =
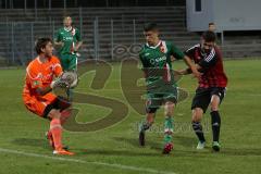
[[[139,59],[142,64],[147,84],[147,117],[139,128],[139,144],[140,146],[145,146],[145,132],[154,122],[157,110],[161,105],[164,105],[163,153],[170,153],[173,149],[173,111],[177,102],[177,87],[172,71],[171,57],[173,55],[175,59],[184,60],[191,69],[195,76],[199,77],[200,73],[197,71],[191,60],[172,42],[160,40],[157,24],[147,24],[144,28],[144,35],[147,44],[141,49]]]

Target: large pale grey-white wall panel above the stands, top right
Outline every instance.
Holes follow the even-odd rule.
[[[206,30],[210,22],[217,30],[261,30],[261,0],[201,0],[201,12],[195,12],[195,0],[186,2],[188,30]]]

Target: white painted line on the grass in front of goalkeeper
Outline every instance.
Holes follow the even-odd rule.
[[[114,167],[114,169],[128,170],[128,171],[148,172],[148,173],[157,173],[157,174],[177,174],[177,173],[173,173],[173,172],[157,171],[157,170],[152,170],[152,169],[138,167],[138,166],[132,166],[132,165],[122,165],[122,164],[117,164],[117,163],[84,161],[84,160],[77,160],[77,159],[72,159],[72,158],[52,157],[52,156],[37,154],[37,153],[30,153],[30,152],[24,152],[24,151],[11,150],[11,149],[3,149],[3,148],[0,148],[0,152],[21,154],[21,156],[26,156],[26,157],[42,158],[42,159],[51,159],[51,160],[57,160],[57,161],[103,165],[103,166],[110,166],[110,167]]]

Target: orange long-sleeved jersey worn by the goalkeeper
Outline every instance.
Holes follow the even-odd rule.
[[[57,57],[51,57],[47,62],[40,62],[37,57],[33,60],[26,69],[25,86],[23,90],[23,100],[38,100],[42,102],[52,102],[57,96],[52,92],[48,92],[45,96],[39,96],[36,92],[37,88],[50,86],[53,77],[62,74],[62,67]]]

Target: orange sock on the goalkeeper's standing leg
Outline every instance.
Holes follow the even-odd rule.
[[[62,126],[60,119],[52,119],[50,123],[50,132],[53,137],[54,148],[62,148]]]

